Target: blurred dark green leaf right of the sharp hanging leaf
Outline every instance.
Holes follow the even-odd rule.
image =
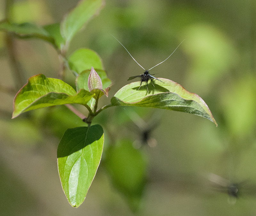
[[[122,140],[106,152],[106,166],[113,185],[128,199],[134,212],[139,208],[146,186],[148,161],[132,141]]]

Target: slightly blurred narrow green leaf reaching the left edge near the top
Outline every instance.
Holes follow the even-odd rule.
[[[33,23],[8,23],[7,21],[0,22],[0,30],[12,32],[20,38],[38,38],[55,45],[54,38],[44,28],[36,26]]]

